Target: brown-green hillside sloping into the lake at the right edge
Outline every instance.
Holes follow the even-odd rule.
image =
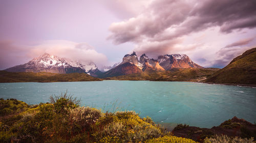
[[[256,84],[256,48],[245,51],[205,82]]]

